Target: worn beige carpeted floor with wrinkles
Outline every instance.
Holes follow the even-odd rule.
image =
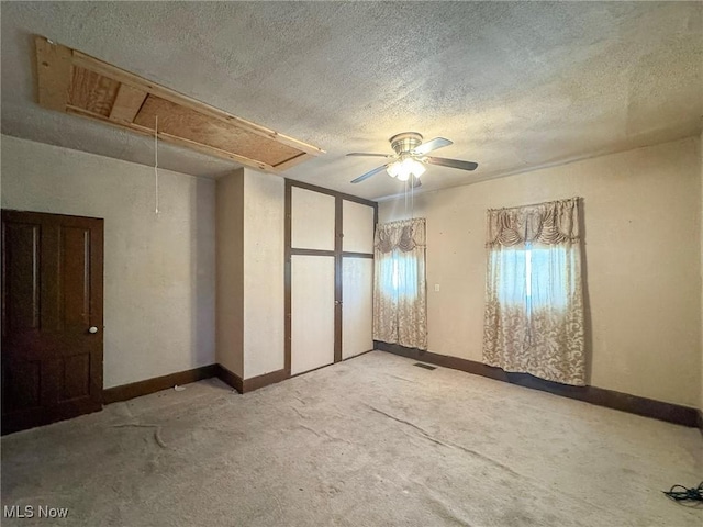
[[[696,429],[375,351],[7,436],[2,525],[701,527],[701,480]]]

